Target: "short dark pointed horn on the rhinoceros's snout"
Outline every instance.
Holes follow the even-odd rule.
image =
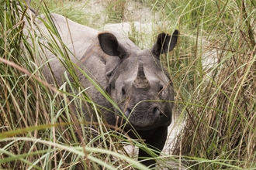
[[[144,66],[143,66],[142,61],[140,61],[139,67],[138,67],[137,77],[134,80],[134,86],[136,88],[144,89],[148,85],[149,85],[149,82],[148,82],[147,77],[145,76],[145,73],[144,73]]]

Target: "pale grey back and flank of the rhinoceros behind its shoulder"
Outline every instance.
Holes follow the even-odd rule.
[[[89,28],[88,26],[82,26],[81,24],[73,22],[62,15],[51,14],[50,16],[54,21],[54,26],[57,28],[57,32],[60,36],[54,36],[52,38],[52,32],[49,32],[49,29],[45,26],[45,23],[49,23],[45,15],[40,15],[40,17],[36,19],[40,35],[42,35],[43,39],[41,43],[46,46],[43,47],[42,53],[45,53],[47,56],[47,59],[44,61],[40,60],[39,63],[43,64],[44,62],[49,62],[50,69],[48,66],[43,66],[44,76],[48,83],[54,83],[50,73],[51,70],[54,73],[57,83],[61,85],[63,83],[63,74],[66,71],[62,62],[67,59],[66,56],[61,54],[64,52],[64,46],[67,47],[67,54],[71,62],[78,63],[78,60],[81,59],[85,51],[88,49],[88,46],[93,42],[93,39],[97,37],[98,31]],[[56,44],[55,41],[57,42]],[[59,46],[61,52],[52,53],[48,49],[49,42],[53,43],[52,46]]]

